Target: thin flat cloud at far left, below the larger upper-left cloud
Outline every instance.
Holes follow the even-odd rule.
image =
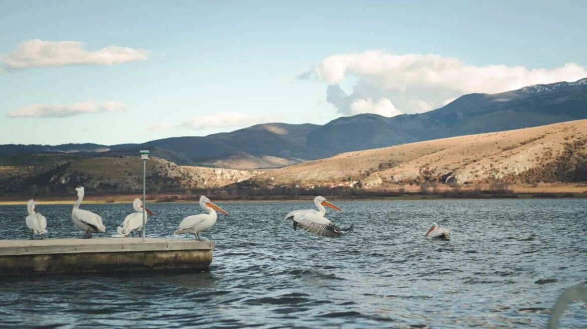
[[[65,105],[33,104],[15,109],[6,114],[7,118],[67,118],[88,113],[121,112],[126,107],[120,102],[104,102],[96,104],[93,101],[77,102]]]

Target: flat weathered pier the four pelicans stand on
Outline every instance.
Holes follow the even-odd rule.
[[[78,273],[197,272],[214,241],[162,238],[0,240],[0,277]]]

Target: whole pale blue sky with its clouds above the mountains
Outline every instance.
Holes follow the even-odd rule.
[[[585,12],[584,1],[0,1],[0,143],[324,124],[578,80]],[[46,51],[67,41],[87,62]],[[124,60],[96,59],[103,49]]]

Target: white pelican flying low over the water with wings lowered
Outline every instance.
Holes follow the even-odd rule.
[[[315,197],[314,204],[318,211],[313,209],[294,210],[285,216],[284,221],[294,221],[294,231],[299,226],[308,232],[322,235],[324,237],[339,238],[342,232],[350,232],[353,230],[353,225],[348,228],[339,228],[334,225],[328,218],[324,217],[326,208],[324,206],[340,211],[339,207],[326,201],[325,197]]]

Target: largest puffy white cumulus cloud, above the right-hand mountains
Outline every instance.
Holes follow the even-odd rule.
[[[587,68],[575,63],[531,69],[502,64],[477,66],[438,54],[367,51],[326,57],[297,77],[314,77],[328,84],[326,99],[343,114],[352,113],[350,104],[369,98],[387,99],[404,113],[418,113],[472,92],[497,93],[525,85],[576,81],[587,77]],[[358,78],[350,94],[339,87],[348,77]]]

